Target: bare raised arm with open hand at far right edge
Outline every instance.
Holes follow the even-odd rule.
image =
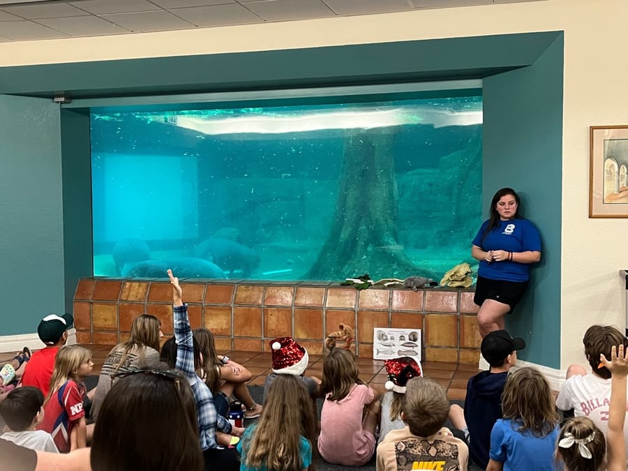
[[[600,361],[611,371],[611,405],[608,408],[608,436],[606,438],[606,461],[608,471],[626,469],[626,447],[624,421],[626,419],[626,376],[628,375],[628,351],[624,345],[613,346],[611,361],[604,354]]]

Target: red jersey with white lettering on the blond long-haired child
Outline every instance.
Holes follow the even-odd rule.
[[[50,396],[50,400],[44,404],[44,419],[38,426],[39,430],[52,435],[54,444],[57,445],[61,453],[70,451],[70,434],[78,419],[85,415],[83,410],[85,388],[83,384],[68,380],[63,386],[60,388],[60,390],[63,389],[61,402],[59,402],[59,391],[55,391]]]

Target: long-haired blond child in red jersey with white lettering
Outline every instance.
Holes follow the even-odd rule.
[[[87,447],[87,421],[83,410],[85,384],[94,363],[91,352],[80,345],[66,345],[54,359],[50,392],[44,403],[40,430],[52,435],[61,453]]]

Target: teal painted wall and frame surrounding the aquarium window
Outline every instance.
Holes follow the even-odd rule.
[[[495,188],[521,189],[547,253],[522,306],[528,315],[509,326],[528,342],[525,359],[558,368],[563,40],[561,31],[548,31],[3,68],[0,92],[30,95],[1,98],[0,132],[9,143],[3,155],[24,156],[11,160],[2,177],[4,199],[15,201],[3,216],[21,223],[8,227],[2,249],[15,275],[7,286],[15,301],[7,308],[25,313],[7,320],[6,334],[32,331],[41,312],[69,310],[77,281],[91,276],[89,108],[103,105],[96,97],[481,77],[483,208]],[[74,102],[59,109],[37,98],[55,90],[73,90]],[[24,183],[38,190],[20,192]],[[23,196],[16,200],[16,193]],[[37,297],[27,284],[38,287]]]

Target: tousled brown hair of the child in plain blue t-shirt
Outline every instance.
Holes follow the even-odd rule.
[[[520,368],[506,380],[502,394],[504,419],[519,425],[517,431],[531,431],[544,437],[558,425],[552,391],[544,375],[535,368]]]

